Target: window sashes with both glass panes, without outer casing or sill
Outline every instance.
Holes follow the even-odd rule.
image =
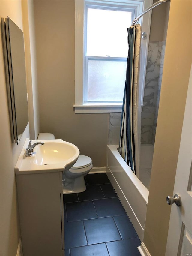
[[[123,101],[127,27],[131,26],[134,12],[122,7],[86,5],[85,103]]]

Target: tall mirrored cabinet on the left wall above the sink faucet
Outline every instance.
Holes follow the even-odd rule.
[[[28,122],[28,100],[23,32],[8,17],[1,18],[11,137],[18,143]]]

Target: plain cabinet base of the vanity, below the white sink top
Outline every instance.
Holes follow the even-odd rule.
[[[16,175],[24,256],[64,256],[62,172]]]

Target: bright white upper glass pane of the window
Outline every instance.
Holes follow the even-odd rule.
[[[125,57],[131,12],[88,8],[87,56]]]

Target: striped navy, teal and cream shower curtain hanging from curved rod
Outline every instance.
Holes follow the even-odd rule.
[[[136,174],[139,170],[138,102],[139,56],[141,43],[140,24],[128,28],[128,59],[122,107],[119,153]]]

